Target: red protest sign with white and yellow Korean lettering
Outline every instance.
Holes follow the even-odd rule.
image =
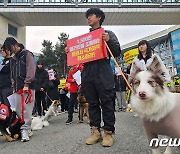
[[[107,57],[106,46],[102,40],[103,28],[67,40],[67,65],[72,66]]]

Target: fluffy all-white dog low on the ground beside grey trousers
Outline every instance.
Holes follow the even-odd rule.
[[[32,117],[31,129],[32,130],[40,130],[43,127],[49,126],[49,122],[46,120],[42,120],[39,117]]]

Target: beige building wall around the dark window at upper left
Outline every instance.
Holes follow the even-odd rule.
[[[17,37],[8,34],[8,24],[17,28]],[[0,46],[3,44],[6,37],[14,37],[18,42],[25,44],[26,42],[26,27],[22,27],[11,20],[0,15]]]

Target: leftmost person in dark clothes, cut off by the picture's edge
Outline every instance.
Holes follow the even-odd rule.
[[[12,83],[10,78],[10,60],[11,52],[1,47],[1,54],[4,57],[0,67],[0,103],[10,106],[8,96],[12,95]]]

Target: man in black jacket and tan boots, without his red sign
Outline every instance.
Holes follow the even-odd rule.
[[[104,12],[99,8],[88,9],[85,16],[88,25],[91,27],[90,31],[101,28],[105,19]],[[115,57],[120,56],[120,44],[112,31],[105,30],[102,34],[102,39],[107,42]],[[92,131],[91,136],[86,140],[86,144],[95,144],[101,140],[102,114],[104,136],[101,144],[105,147],[112,146],[112,133],[115,131],[115,114],[113,107],[114,76],[110,66],[110,55],[108,58],[84,64],[82,89],[89,103],[90,127]]]

